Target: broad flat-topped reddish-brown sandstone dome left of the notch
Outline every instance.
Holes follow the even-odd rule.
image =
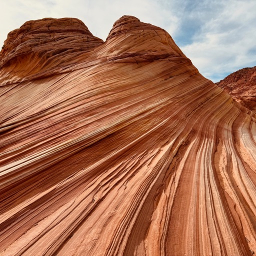
[[[25,77],[56,67],[101,43],[103,40],[93,36],[77,18],[30,20],[9,32],[4,41],[0,76],[10,80],[14,74]]]

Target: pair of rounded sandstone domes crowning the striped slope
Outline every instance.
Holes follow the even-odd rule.
[[[173,57],[190,61],[164,29],[134,16],[114,22],[105,42],[77,18],[43,18],[8,34],[0,51],[0,81],[4,85],[45,76],[47,70],[63,72],[84,60],[145,62]]]

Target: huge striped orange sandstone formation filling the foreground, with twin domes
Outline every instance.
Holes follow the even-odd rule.
[[[68,51],[29,29],[1,51],[0,255],[253,254],[255,114],[159,27],[23,26],[48,22],[77,24]]]

